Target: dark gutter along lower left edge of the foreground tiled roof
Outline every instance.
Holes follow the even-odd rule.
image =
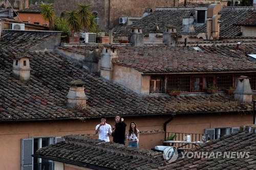
[[[35,158],[48,159],[48,160],[62,162],[62,163],[67,163],[67,164],[76,165],[76,166],[80,166],[80,167],[86,167],[86,168],[90,168],[90,169],[97,169],[97,170],[113,169],[113,168],[102,167],[102,166],[97,166],[97,165],[88,164],[88,163],[80,163],[80,162],[76,162],[76,161],[65,160],[65,159],[49,157],[49,156],[41,156],[41,155],[31,155],[31,156],[35,157]]]

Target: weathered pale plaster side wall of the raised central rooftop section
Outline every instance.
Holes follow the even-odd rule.
[[[135,69],[114,65],[113,81],[139,94],[141,93],[141,74]]]

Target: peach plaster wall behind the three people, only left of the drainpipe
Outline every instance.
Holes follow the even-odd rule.
[[[137,123],[138,129],[147,131],[140,135],[139,147],[151,149],[154,145],[161,144],[163,132],[154,132],[153,129],[163,129],[163,121],[156,122],[154,118],[125,118],[126,131],[129,130],[131,122]],[[63,136],[68,134],[86,134],[87,137],[98,138],[95,135],[95,127],[100,120],[80,120],[62,122],[33,122],[33,123],[2,123],[0,124],[0,169],[20,169],[21,139],[40,136]],[[108,118],[106,123],[113,126],[114,117]],[[90,134],[90,135],[87,135]],[[110,137],[110,141],[113,138]],[[127,141],[126,141],[127,144]]]

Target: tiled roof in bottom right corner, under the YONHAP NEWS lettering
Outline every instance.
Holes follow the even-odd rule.
[[[205,156],[203,158],[187,158],[187,156],[182,158],[182,156],[179,155],[178,159],[175,162],[156,169],[255,169],[255,128],[255,125],[245,126],[244,128],[240,127],[240,132],[234,132],[228,135],[224,135],[219,139],[212,140],[211,142],[206,142],[205,144],[201,144],[199,147],[188,151],[198,153],[214,152],[215,156],[217,155],[217,152],[221,152],[222,156],[218,156],[218,158],[205,158]],[[244,152],[242,154],[248,152],[249,158],[247,157],[247,155],[245,155],[244,157],[241,156],[239,158],[237,156],[237,153],[235,154],[236,158],[231,158],[227,156],[224,157],[224,152]]]

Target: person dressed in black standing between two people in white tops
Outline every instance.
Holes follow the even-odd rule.
[[[123,118],[119,115],[115,116],[116,125],[113,126],[112,136],[115,143],[125,144],[125,127]]]

